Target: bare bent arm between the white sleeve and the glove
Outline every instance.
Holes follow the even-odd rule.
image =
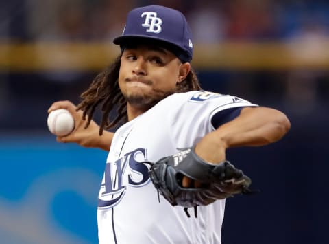
[[[289,129],[290,122],[284,113],[265,107],[246,107],[234,120],[202,138],[195,152],[208,162],[221,162],[226,148],[270,144],[280,140]]]

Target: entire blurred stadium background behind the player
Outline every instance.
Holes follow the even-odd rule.
[[[260,193],[228,199],[223,243],[328,244],[328,0],[1,0],[0,243],[97,243],[107,154],[58,144],[47,109],[80,101],[147,4],[186,15],[204,89],[291,120],[276,144],[228,151]]]

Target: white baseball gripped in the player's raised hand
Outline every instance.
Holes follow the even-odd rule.
[[[66,109],[51,111],[47,119],[48,129],[53,135],[69,135],[74,129],[74,119]]]

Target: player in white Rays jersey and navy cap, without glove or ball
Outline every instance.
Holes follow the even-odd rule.
[[[193,148],[200,160],[220,164],[227,148],[280,140],[289,120],[276,109],[202,90],[191,68],[191,30],[176,10],[133,9],[114,44],[120,56],[77,107],[58,101],[49,108],[69,109],[75,118],[75,131],[58,142],[109,151],[98,197],[99,243],[221,243],[225,199],[198,206],[197,218],[188,218],[182,206],[158,196],[149,166],[141,162]],[[93,121],[98,107],[100,126]],[[109,118],[115,109],[117,117]],[[115,133],[107,131],[116,126]],[[182,188],[193,184],[198,181],[182,178]]]

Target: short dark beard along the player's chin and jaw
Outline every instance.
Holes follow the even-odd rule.
[[[127,96],[126,94],[123,94],[125,97],[125,100],[132,105],[133,107],[136,107],[138,109],[150,109],[151,107],[154,107],[160,100],[167,98],[167,96],[175,93],[175,90],[173,91],[154,91],[153,94],[131,94]]]

